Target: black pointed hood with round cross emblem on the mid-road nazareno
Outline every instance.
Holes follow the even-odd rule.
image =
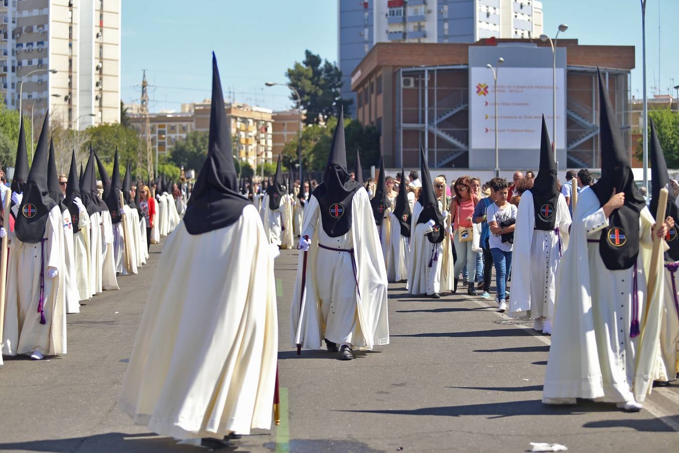
[[[314,189],[318,200],[323,230],[331,238],[343,236],[351,228],[351,201],[354,194],[363,187],[358,181],[351,181],[346,169],[346,147],[344,144],[344,109],[339,113],[333,144],[323,173],[323,183]]]

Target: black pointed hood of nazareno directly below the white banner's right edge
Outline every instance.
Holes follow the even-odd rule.
[[[565,184],[570,184],[570,181],[566,181]],[[535,229],[554,230],[559,189],[554,151],[549,140],[545,115],[543,115],[543,130],[540,139],[540,169],[530,193],[533,196],[535,210]]]

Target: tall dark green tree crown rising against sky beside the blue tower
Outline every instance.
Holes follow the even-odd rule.
[[[337,65],[323,60],[319,55],[310,50],[304,52],[304,61],[295,62],[293,67],[286,73],[289,84],[299,92],[301,105],[306,110],[306,124],[316,124],[320,119],[324,121],[331,116],[339,114],[339,109],[344,107],[344,112],[350,113],[350,99],[342,99],[339,92],[342,89],[342,71]],[[297,96],[290,96],[297,106]]]

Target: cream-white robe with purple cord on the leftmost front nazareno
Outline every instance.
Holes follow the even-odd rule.
[[[21,242],[16,234],[10,234],[7,302],[2,339],[2,353],[5,355],[30,354],[34,350],[39,350],[43,355],[67,352],[66,306],[64,299],[58,297],[58,274],[65,272],[60,267],[63,264],[60,256],[63,229],[59,206],[54,206],[48,216],[43,248],[41,242],[27,244]],[[55,278],[48,278],[48,268],[56,268],[58,274]],[[37,311],[41,273],[45,284],[45,324],[40,324],[40,313]]]

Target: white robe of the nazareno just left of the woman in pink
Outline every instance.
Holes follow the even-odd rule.
[[[439,209],[441,209],[441,202],[439,201]],[[432,232],[428,223],[417,223],[422,213],[422,204],[419,201],[415,202],[413,215],[410,223],[410,266],[408,268],[408,283],[407,288],[411,294],[416,295],[432,295],[433,293],[445,293],[452,291],[452,282],[447,279],[441,281],[441,274],[443,273],[443,242],[432,244],[426,234]],[[447,234],[443,240],[450,240]],[[454,260],[452,256],[447,260],[447,274],[452,276],[454,269]],[[431,266],[429,266],[431,264]]]

